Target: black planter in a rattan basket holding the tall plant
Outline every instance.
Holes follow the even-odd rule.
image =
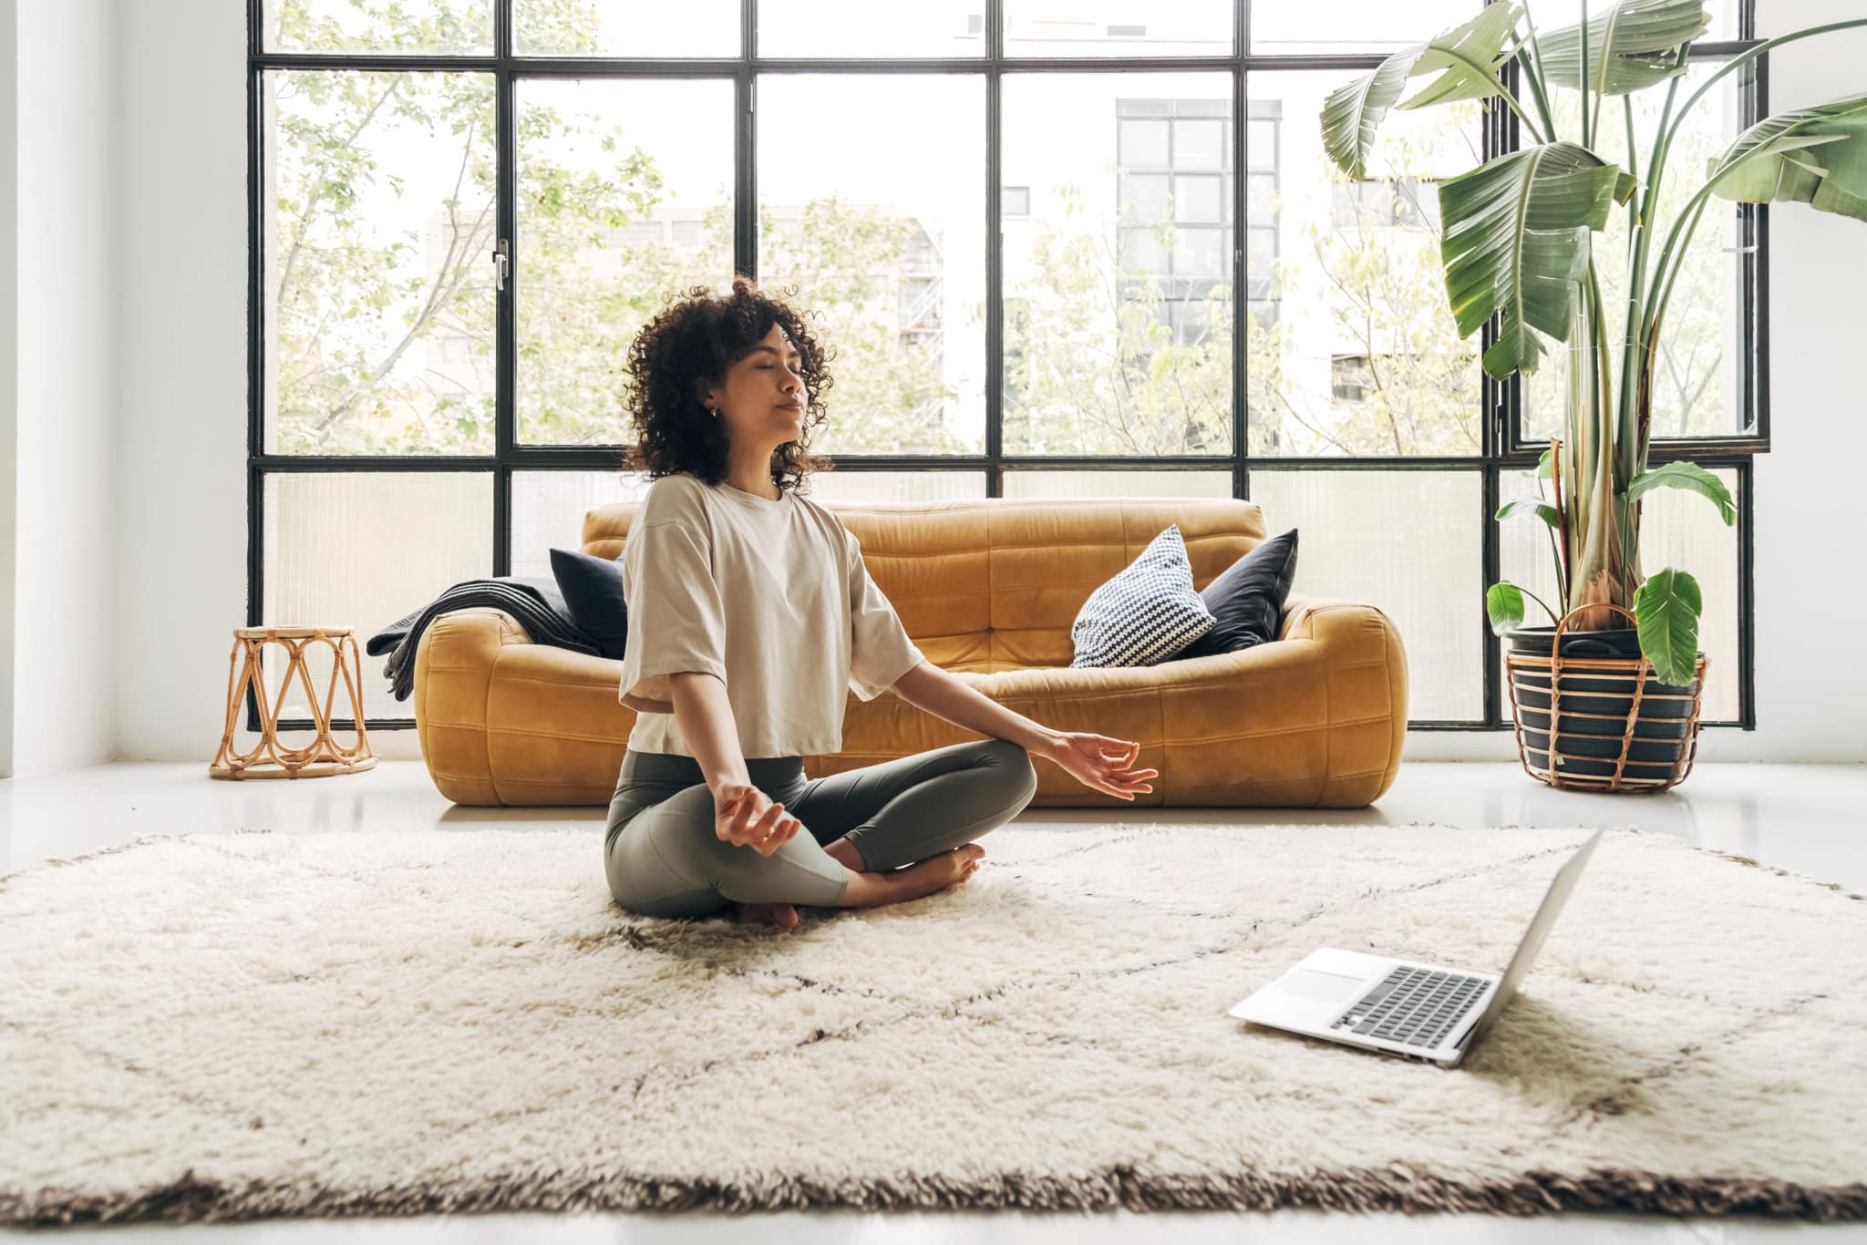
[[[1533,778],[1576,791],[1665,791],[1686,780],[1699,748],[1705,653],[1692,683],[1662,683],[1634,627],[1568,631],[1583,605],[1555,627],[1510,633],[1505,685],[1516,717],[1518,758]],[[1551,745],[1551,717],[1555,719]]]

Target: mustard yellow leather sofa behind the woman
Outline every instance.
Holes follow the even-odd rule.
[[[614,558],[639,502],[584,515]],[[1255,502],[1109,498],[825,502],[863,541],[876,584],[934,664],[1059,730],[1141,743],[1158,769],[1131,803],[1038,762],[1032,804],[1355,808],[1393,784],[1406,732],[1406,651],[1372,605],[1292,595],[1275,642],[1154,666],[1072,670],[1070,623],[1098,584],[1178,523],[1204,588],[1266,538]],[[1305,532],[1305,541],[1327,539]],[[635,711],[622,663],[532,644],[497,609],[435,618],[414,655],[422,758],[459,804],[609,804]],[[833,775],[980,739],[894,694],[849,692]]]

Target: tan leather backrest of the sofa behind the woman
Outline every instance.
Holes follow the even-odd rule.
[[[583,551],[616,558],[639,502],[584,515]],[[1068,666],[1070,623],[1098,586],[1180,525],[1204,588],[1266,538],[1238,498],[1008,498],[829,502],[907,635],[943,670]]]

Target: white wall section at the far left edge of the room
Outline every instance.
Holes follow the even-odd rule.
[[[7,6],[7,773],[116,752],[118,4]]]

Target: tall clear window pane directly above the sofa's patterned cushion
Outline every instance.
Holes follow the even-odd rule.
[[[1230,97],[1223,73],[1004,77],[1004,177],[1031,187],[1004,230],[1008,454],[1232,452],[1228,245],[1159,196],[1180,127],[1223,127]],[[1152,175],[1116,162],[1135,123],[1169,125]]]

